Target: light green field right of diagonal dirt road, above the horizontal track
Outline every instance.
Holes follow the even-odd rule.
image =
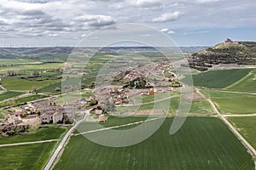
[[[249,114],[256,111],[256,95],[221,92],[218,90],[201,90],[223,114]]]

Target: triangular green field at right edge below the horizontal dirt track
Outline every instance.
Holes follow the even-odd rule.
[[[256,148],[256,116],[228,117],[241,135]]]

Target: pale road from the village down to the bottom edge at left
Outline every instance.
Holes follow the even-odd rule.
[[[61,144],[59,144],[59,146],[56,148],[54,154],[49,158],[49,161],[47,162],[46,166],[44,167],[44,170],[49,170],[52,167],[56,157],[59,155],[61,149],[63,148],[63,146],[66,143],[69,136],[73,133],[73,131],[76,129],[76,127],[78,127],[79,124],[86,119],[86,117],[89,114],[90,114],[90,110],[85,111],[84,117],[79,122],[76,122],[75,125],[69,129],[69,131],[66,133],[64,138],[61,140]]]

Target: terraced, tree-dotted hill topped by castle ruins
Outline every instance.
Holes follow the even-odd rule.
[[[256,42],[233,42],[228,38],[189,59],[189,67],[200,71],[219,64],[256,65]]]

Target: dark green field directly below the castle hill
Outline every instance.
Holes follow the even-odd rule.
[[[252,69],[231,69],[221,71],[206,71],[196,75],[192,75],[194,86],[207,88],[226,88],[231,84],[237,82]],[[182,82],[186,82],[184,78]]]

